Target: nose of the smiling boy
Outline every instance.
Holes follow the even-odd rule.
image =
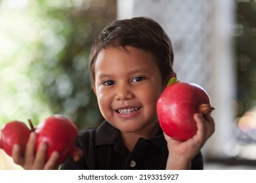
[[[133,99],[134,94],[129,86],[126,86],[125,84],[120,84],[116,88],[116,100],[129,100]]]

